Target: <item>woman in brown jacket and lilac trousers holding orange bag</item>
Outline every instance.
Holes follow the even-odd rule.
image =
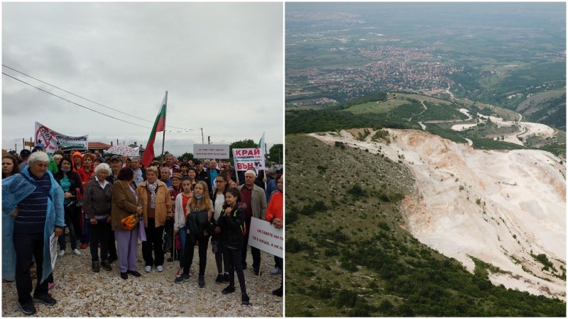
[[[116,236],[117,250],[119,253],[120,276],[128,279],[129,275],[141,276],[136,272],[136,254],[138,252],[138,228],[139,224],[131,230],[122,229],[122,218],[132,214],[142,216],[142,206],[139,204],[136,187],[133,184],[134,172],[130,167],[124,167],[112,186],[111,198],[111,227]]]

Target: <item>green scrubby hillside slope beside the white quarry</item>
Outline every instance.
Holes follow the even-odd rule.
[[[381,155],[286,136],[286,316],[566,316],[562,301],[488,281],[422,245],[399,204],[408,169]]]

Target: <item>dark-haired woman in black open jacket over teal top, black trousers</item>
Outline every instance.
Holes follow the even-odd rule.
[[[67,156],[62,157],[58,166],[58,173],[55,174],[54,178],[61,188],[63,189],[65,201],[63,201],[63,206],[65,206],[65,224],[69,228],[69,237],[71,242],[71,251],[75,255],[80,255],[81,252],[77,249],[77,233],[75,232],[75,225],[73,225],[73,219],[77,215],[77,194],[82,193],[83,185],[81,184],[81,178],[79,174],[73,172],[71,169],[72,162]],[[65,254],[65,227],[63,228],[63,233],[58,237],[60,250],[58,252],[59,256]]]

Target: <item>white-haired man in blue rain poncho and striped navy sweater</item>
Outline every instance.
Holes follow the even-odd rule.
[[[34,152],[21,174],[2,180],[2,276],[16,280],[18,304],[26,315],[35,313],[34,302],[48,306],[57,302],[49,295],[46,280],[53,272],[49,238],[61,235],[65,227],[65,195],[48,164],[45,152]],[[33,297],[32,256],[38,275]]]

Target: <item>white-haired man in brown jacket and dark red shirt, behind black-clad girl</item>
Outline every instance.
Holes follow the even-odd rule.
[[[264,219],[266,213],[266,195],[264,190],[254,184],[256,179],[256,172],[249,169],[244,174],[244,184],[239,186],[241,191],[242,201],[246,204],[245,209],[245,222],[246,229],[251,228],[251,219],[259,218]],[[246,269],[246,246],[249,245],[249,233],[244,235],[244,245],[242,253],[243,269]],[[253,256],[253,272],[257,276],[260,274],[261,267],[261,250],[256,247],[251,247],[251,254]]]

